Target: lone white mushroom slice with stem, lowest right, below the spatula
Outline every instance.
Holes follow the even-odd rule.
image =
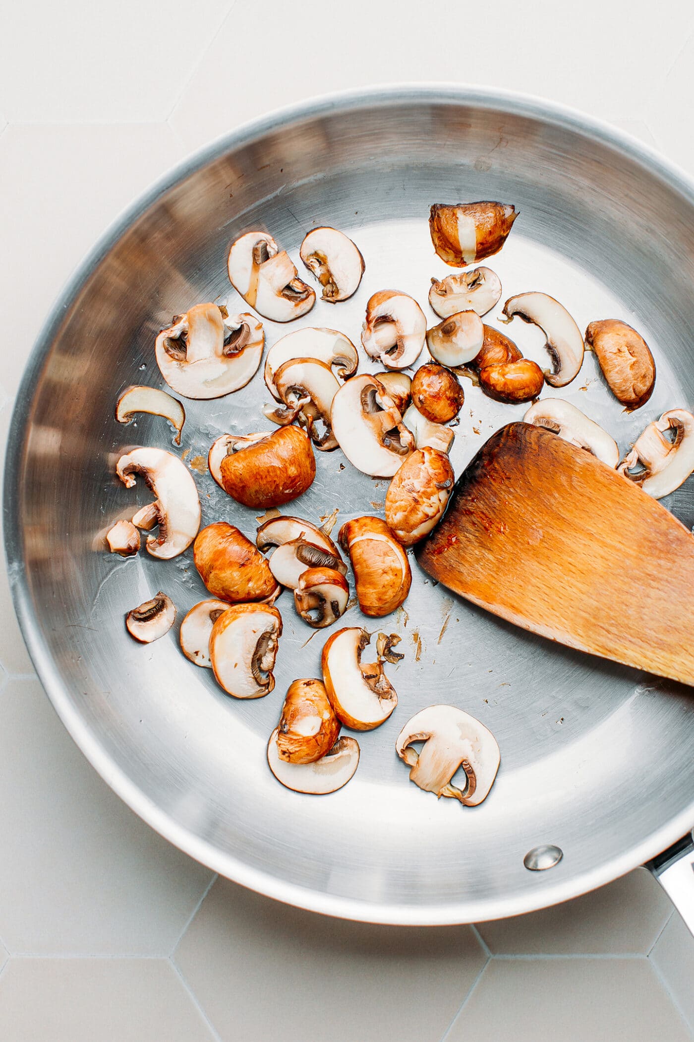
[[[419,752],[412,748],[414,742],[425,743]],[[500,760],[492,733],[455,705],[430,705],[415,713],[397,736],[395,752],[420,789],[459,799],[465,807],[477,807],[489,795]],[[459,767],[467,776],[463,789],[453,785]]]

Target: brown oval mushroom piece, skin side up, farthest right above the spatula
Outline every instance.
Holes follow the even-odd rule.
[[[615,398],[628,410],[645,405],[656,387],[656,363],[643,337],[625,322],[602,319],[586,329],[586,345]]]

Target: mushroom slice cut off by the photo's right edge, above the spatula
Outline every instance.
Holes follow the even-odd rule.
[[[665,437],[669,430],[672,440]],[[632,473],[635,467],[641,469]],[[639,435],[617,470],[653,499],[674,492],[694,471],[694,416],[684,408],[663,413]]]

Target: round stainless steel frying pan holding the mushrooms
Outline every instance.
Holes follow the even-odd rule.
[[[157,590],[179,618],[204,595],[190,553],[160,563],[113,560],[103,532],[147,491],[126,490],[113,464],[126,446],[171,448],[164,421],[113,419],[127,384],[161,384],[154,338],[174,314],[229,297],[231,240],[266,228],[294,259],[315,224],[344,229],[366,273],[357,296],[318,303],[290,327],[337,327],[355,342],[364,304],[395,288],[427,305],[432,202],[502,199],[520,209],[491,267],[506,296],[544,290],[583,328],[619,317],[649,342],[659,367],[645,408],[627,415],[592,356],[568,397],[625,447],[666,407],[694,405],[694,184],[643,146],[573,113],[515,96],[454,88],[341,96],[256,122],[197,154],[101,241],[66,290],[34,348],[15,412],[4,495],[17,611],[38,674],[85,755],[130,807],[194,858],[258,891],[319,912],[391,923],[451,923],[528,912],[652,864],[680,908],[694,899],[694,693],[555,646],[434,587],[414,566],[399,632],[406,659],[390,675],[400,705],[360,738],[353,782],[329,797],[282,789],[265,763],[282,696],[317,675],[325,637],[311,637],[284,595],[285,632],[271,696],[227,698],[187,663],[177,629],[136,646],[123,615]],[[301,265],[300,265],[301,267]],[[307,276],[308,277],[308,276]],[[494,323],[494,316],[489,317]],[[541,359],[539,330],[510,327]],[[367,369],[365,361],[361,369]],[[465,381],[456,472],[523,407]],[[247,534],[254,512],[205,471],[225,430],[263,429],[261,373],[243,391],[185,402],[183,445],[204,523]],[[318,475],[291,512],[340,521],[379,513],[387,482],[319,454]],[[137,498],[137,497],[140,498]],[[692,490],[666,502],[694,522]],[[599,502],[594,504],[600,510]],[[619,525],[619,518],[614,518]],[[623,534],[628,540],[628,531]],[[619,568],[619,561],[615,561]],[[677,611],[677,605],[672,605]],[[352,609],[344,624],[366,622]],[[308,638],[311,637],[309,641]],[[393,743],[415,711],[451,701],[496,736],[491,796],[466,810],[408,782]],[[545,845],[557,851],[540,851]],[[554,864],[544,871],[526,867]],[[689,891],[689,893],[688,893]],[[694,908],[690,904],[690,922]]]

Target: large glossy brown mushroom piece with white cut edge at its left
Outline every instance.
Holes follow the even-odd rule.
[[[300,427],[222,435],[212,443],[207,464],[232,499],[261,510],[297,499],[315,477],[311,440]]]

